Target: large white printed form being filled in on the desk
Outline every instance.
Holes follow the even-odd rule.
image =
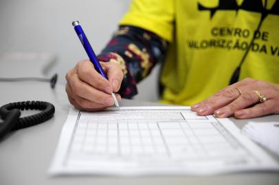
[[[189,107],[71,109],[52,175],[211,175],[278,171],[279,164],[229,119]]]

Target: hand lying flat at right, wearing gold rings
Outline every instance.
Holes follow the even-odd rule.
[[[246,78],[191,107],[199,115],[249,119],[279,114],[279,84]]]

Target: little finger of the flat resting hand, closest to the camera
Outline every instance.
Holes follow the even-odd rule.
[[[234,112],[234,116],[237,119],[250,119],[259,116],[265,116],[268,114],[274,114],[276,108],[276,102],[274,99],[269,99],[263,103],[258,103],[252,108],[246,108],[243,110],[237,110]]]

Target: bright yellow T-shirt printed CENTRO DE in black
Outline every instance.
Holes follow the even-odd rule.
[[[279,1],[134,0],[120,24],[170,42],[163,103],[191,105],[228,86],[253,37],[240,79],[279,84]]]

